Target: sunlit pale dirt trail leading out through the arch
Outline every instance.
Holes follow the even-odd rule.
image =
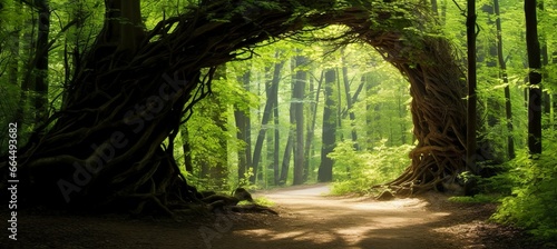
[[[461,248],[434,231],[449,212],[433,212],[420,199],[392,201],[326,197],[328,186],[272,191],[265,196],[284,208],[290,222],[273,232],[244,231],[262,240],[282,240],[283,248]],[[450,236],[452,237],[452,236]],[[473,245],[471,245],[473,246]]]

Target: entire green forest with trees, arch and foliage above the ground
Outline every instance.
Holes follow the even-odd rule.
[[[555,246],[556,26],[556,0],[2,0],[2,206],[326,182],[495,203]]]

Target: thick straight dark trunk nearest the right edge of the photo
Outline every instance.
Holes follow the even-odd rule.
[[[541,153],[541,60],[538,41],[538,23],[536,18],[536,0],[526,0],[526,46],[528,50],[528,149],[531,155]]]

